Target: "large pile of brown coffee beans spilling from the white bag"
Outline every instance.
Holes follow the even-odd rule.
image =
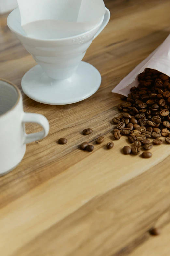
[[[148,152],[153,145],[170,144],[170,77],[146,68],[138,75],[139,85],[132,87],[128,97],[121,96],[123,103],[118,105],[122,113],[113,118],[116,125],[113,134],[116,140],[121,135],[128,137],[131,148],[126,146],[123,153],[138,155],[141,147],[146,152],[143,158],[150,158]],[[153,139],[153,141],[151,141]]]

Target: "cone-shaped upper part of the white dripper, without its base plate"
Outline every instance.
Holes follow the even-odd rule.
[[[93,39],[102,32],[109,20],[110,11],[106,8],[104,17],[91,30],[77,36],[44,40],[25,35],[18,8],[9,14],[7,25],[48,77],[64,80],[77,70]]]

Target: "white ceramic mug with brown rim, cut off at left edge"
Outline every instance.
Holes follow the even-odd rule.
[[[37,123],[43,130],[26,134],[25,123]],[[48,120],[40,114],[24,113],[20,90],[0,79],[0,175],[13,170],[21,162],[27,143],[43,139],[48,132]]]

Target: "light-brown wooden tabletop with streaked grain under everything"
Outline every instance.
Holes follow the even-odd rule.
[[[108,0],[111,20],[84,58],[102,75],[89,99],[66,106],[23,94],[26,112],[45,115],[47,138],[27,145],[21,164],[0,178],[0,254],[3,256],[163,256],[170,254],[170,147],[153,158],[123,156],[113,141],[119,95],[111,90],[170,33],[169,0]],[[21,89],[36,63],[0,19],[0,78]],[[39,126],[27,125],[27,132]],[[93,133],[82,135],[84,128]],[[105,142],[95,145],[99,135]],[[66,137],[66,145],[56,141]],[[79,150],[81,142],[92,153]],[[1,146],[1,145],[0,145]],[[162,228],[159,237],[148,230]]]

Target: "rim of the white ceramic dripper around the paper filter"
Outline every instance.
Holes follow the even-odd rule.
[[[16,11],[17,9],[19,9],[19,7],[17,7],[17,8],[15,8],[13,11],[11,11],[11,13],[9,13],[9,15],[8,15],[8,17],[7,17],[7,25],[8,25],[8,27],[10,28],[10,30],[11,31],[13,31],[15,34],[17,34],[17,35],[19,35],[19,36],[22,36],[22,37],[24,37],[24,38],[26,38],[26,39],[31,39],[31,40],[35,40],[35,41],[46,41],[46,42],[55,42],[55,41],[57,41],[57,42],[59,42],[59,41],[66,41],[66,40],[73,40],[74,38],[76,38],[76,37],[81,37],[81,36],[85,36],[86,34],[88,34],[88,33],[91,33],[93,30],[95,30],[96,29],[96,27],[100,27],[101,25],[102,25],[102,23],[103,23],[103,19],[104,19],[104,16],[102,17],[102,19],[101,19],[101,21],[95,26],[95,27],[93,27],[92,29],[90,29],[90,30],[88,30],[88,31],[86,31],[86,32],[84,32],[84,33],[81,33],[81,34],[78,34],[78,35],[76,35],[76,36],[71,36],[71,37],[64,37],[64,38],[58,38],[58,39],[39,39],[39,38],[34,38],[34,37],[28,37],[28,36],[26,36],[26,35],[22,35],[21,33],[18,33],[16,30],[14,30],[11,26],[10,26],[10,24],[9,24],[9,17],[12,15],[12,13],[14,12],[14,11]],[[105,10],[107,10],[107,8],[105,7]]]

